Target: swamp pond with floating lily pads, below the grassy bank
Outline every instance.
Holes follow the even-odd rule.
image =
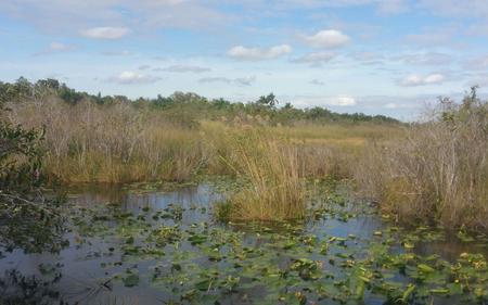
[[[210,182],[70,193],[68,246],[0,249],[0,304],[488,304],[486,237],[407,231],[336,187],[303,224],[223,225]]]

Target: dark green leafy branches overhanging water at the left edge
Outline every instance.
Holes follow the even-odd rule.
[[[42,130],[26,130],[0,122],[0,244],[11,251],[63,245],[60,198],[42,192]]]

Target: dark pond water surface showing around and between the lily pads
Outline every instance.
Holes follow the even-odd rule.
[[[323,260],[325,264],[323,268],[330,272],[335,272],[335,281],[351,277],[352,271],[342,276],[341,272],[344,267],[338,267],[338,263],[333,265],[330,257],[338,257],[336,260],[343,263],[348,262],[346,254],[350,255],[350,257],[354,255],[354,259],[361,259],[368,255],[368,249],[372,241],[382,239],[383,232],[388,228],[388,225],[383,221],[381,216],[370,213],[372,208],[347,208],[345,213],[332,214],[328,211],[320,217],[316,217],[316,220],[295,226],[297,229],[292,236],[295,240],[300,241],[298,245],[282,246],[283,242],[286,243],[286,241],[279,239],[280,245],[277,245],[277,253],[272,253],[273,242],[277,239],[275,234],[280,234],[280,230],[283,230],[282,226],[273,227],[269,225],[265,226],[266,229],[262,230],[261,225],[219,224],[213,218],[211,209],[213,203],[222,200],[223,194],[215,191],[207,183],[177,188],[172,191],[133,192],[120,187],[98,186],[73,189],[70,192],[69,202],[76,206],[85,207],[87,213],[93,207],[110,204],[117,208],[117,213],[130,213],[134,219],[138,216],[144,217],[144,221],[150,224],[151,228],[163,224],[166,227],[178,226],[179,230],[190,232],[190,237],[195,236],[196,238],[200,236],[197,233],[194,234],[192,228],[195,228],[195,231],[201,230],[198,232],[210,231],[209,236],[214,233],[227,234],[228,232],[230,236],[222,237],[222,239],[239,237],[242,243],[239,245],[239,249],[243,249],[247,253],[247,257],[252,257],[252,254],[249,254],[252,253],[251,250],[259,251],[262,249],[266,252],[261,254],[264,257],[262,262],[266,259],[268,259],[266,262],[271,262],[272,259],[278,267],[283,269],[291,265],[294,255],[303,255],[301,252],[309,252],[309,259]],[[84,214],[84,212],[78,213]],[[100,208],[100,212],[97,212],[94,217],[101,219],[108,217],[110,215],[104,215],[105,213],[108,213],[107,209]],[[154,215],[159,217],[153,217]],[[20,250],[15,250],[12,253],[2,251],[4,257],[0,259],[0,277],[3,282],[3,293],[0,296],[0,304],[2,302],[5,304],[24,304],[20,300],[24,300],[25,304],[62,304],[62,302],[64,304],[179,304],[178,302],[181,302],[181,304],[213,304],[214,301],[211,298],[202,298],[202,302],[192,301],[191,296],[185,298],[187,294],[193,293],[193,290],[189,290],[187,294],[183,294],[178,290],[180,287],[178,283],[171,283],[169,287],[175,285],[177,289],[171,291],[168,289],[168,282],[171,282],[172,278],[175,282],[180,280],[181,282],[194,281],[193,285],[198,288],[194,293],[200,293],[198,295],[211,294],[211,280],[208,281],[209,288],[205,291],[205,288],[201,288],[202,281],[192,279],[191,275],[194,275],[195,278],[202,278],[202,270],[206,268],[217,270],[229,268],[232,265],[230,260],[227,262],[226,256],[223,256],[224,259],[219,260],[221,257],[218,256],[228,251],[226,245],[217,244],[198,247],[185,241],[178,241],[160,247],[154,247],[164,250],[165,254],[160,256],[153,255],[154,253],[141,255],[140,249],[138,254],[127,255],[131,244],[143,249],[144,240],[140,240],[132,231],[125,231],[125,227],[120,223],[107,220],[103,223],[104,227],[102,229],[95,228],[95,226],[100,225],[99,223],[101,221],[87,223],[84,225],[85,228],[81,228],[85,231],[93,229],[95,233],[92,234],[80,233],[78,231],[81,230],[80,226],[73,225],[73,230],[66,234],[69,240],[69,246],[59,254],[24,254]],[[136,220],[132,223],[136,224]],[[127,225],[127,223],[124,224]],[[139,221],[137,224],[137,226],[140,226],[143,223]],[[151,231],[151,228],[147,227],[146,231]],[[209,228],[218,228],[219,231],[213,232]],[[140,228],[132,229],[140,230]],[[269,231],[272,232],[272,236],[267,234]],[[129,240],[131,236],[134,237],[134,241]],[[307,241],[307,237],[310,237],[312,241]],[[331,239],[331,237],[333,238]],[[334,238],[338,238],[338,241],[334,240]],[[316,250],[306,251],[307,246],[318,249],[319,241],[322,240],[329,240],[331,244],[334,244],[334,247],[331,247],[328,252],[328,258],[321,256]],[[338,246],[335,246],[335,244],[338,244]],[[213,258],[214,254],[209,254],[213,246],[221,249],[220,252],[216,252],[218,255],[216,254],[217,257],[215,259]],[[292,250],[287,254],[281,249]],[[343,249],[346,254],[341,254]],[[123,250],[125,253],[123,253]],[[406,250],[401,246],[393,245],[390,251],[393,253],[403,253]],[[463,243],[455,238],[444,238],[427,242],[420,240],[412,250],[412,253],[422,256],[437,254],[447,262],[455,262],[460,254],[464,252],[483,253],[486,257],[487,247],[485,244],[476,245]],[[184,257],[187,253],[190,253],[188,258]],[[202,256],[209,257],[209,259],[203,259]],[[187,266],[187,260],[192,262],[196,267],[193,265]],[[178,262],[178,264],[175,262]],[[254,262],[256,263],[253,264],[258,264],[260,260],[256,259]],[[181,276],[180,268],[183,270],[196,269],[194,274],[189,271],[188,275],[190,277],[184,279]],[[301,270],[299,272],[305,271]],[[132,274],[137,275],[134,282],[131,281]],[[234,278],[237,276],[242,278],[240,284],[243,288],[235,289],[224,296],[218,295],[217,300],[222,304],[254,304],[258,302],[264,304],[293,304],[292,301],[284,298],[282,303],[279,303],[278,300],[266,301],[265,296],[268,293],[268,289],[265,284],[256,284],[259,280],[245,280],[244,271],[242,275],[240,275],[240,271],[230,274],[234,275]],[[268,279],[270,278],[269,274],[271,271],[268,272]],[[180,276],[181,278],[179,278]],[[303,274],[299,276],[305,278]],[[394,275],[393,279],[404,284],[410,282],[408,277],[401,275]],[[222,287],[226,287],[226,284],[230,285],[232,278],[229,280],[220,279],[220,281]],[[249,282],[254,282],[254,284],[249,284]],[[205,281],[204,284],[206,284]],[[298,288],[300,284],[296,283],[295,285],[292,284],[292,287]],[[181,287],[183,285],[181,284]],[[171,294],[179,295],[179,297],[174,298]],[[13,297],[15,295],[18,297]],[[181,295],[184,296],[182,297]],[[295,296],[298,300],[298,303],[295,304],[304,302],[299,294],[295,293]],[[457,302],[461,302],[457,297],[448,300],[431,297],[426,300],[433,302],[433,304],[457,304]],[[316,304],[312,301],[305,302],[303,304]],[[320,304],[341,303],[326,298],[313,302]],[[365,304],[384,304],[386,301],[382,294],[367,292],[363,301],[354,301],[351,304],[361,304],[361,302]],[[481,302],[480,304],[485,303]]]

